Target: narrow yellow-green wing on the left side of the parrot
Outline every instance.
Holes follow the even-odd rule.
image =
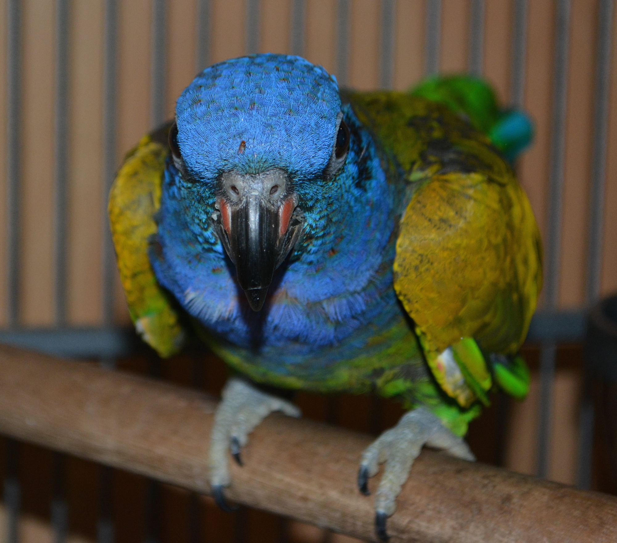
[[[131,319],[141,338],[162,357],[178,352],[186,336],[180,313],[157,283],[148,258],[167,154],[164,144],[151,136],[142,138],[127,155],[109,195],[109,222]]]

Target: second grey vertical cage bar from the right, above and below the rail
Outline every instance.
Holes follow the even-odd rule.
[[[566,109],[568,106],[568,46],[570,0],[558,0],[555,17],[555,79],[553,89],[552,141],[549,177],[549,232],[545,273],[546,309],[557,310],[563,174],[566,148]],[[537,450],[537,475],[549,475],[552,383],[555,378],[557,346],[547,343],[540,351],[540,424]]]

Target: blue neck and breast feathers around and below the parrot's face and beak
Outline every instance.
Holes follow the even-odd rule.
[[[253,349],[337,344],[384,310],[395,311],[395,193],[370,136],[360,136],[331,181],[339,183],[336,197],[306,213],[304,239],[275,272],[257,313],[207,220],[200,235],[189,224],[168,168],[150,254],[159,282],[207,329]]]

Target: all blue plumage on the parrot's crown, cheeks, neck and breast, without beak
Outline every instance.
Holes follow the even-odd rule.
[[[341,110],[349,152],[326,179]],[[150,257],[157,279],[186,311],[247,356],[299,364],[320,352],[325,363],[328,349],[341,344],[360,352],[371,334],[400,318],[392,289],[397,187],[323,68],[269,54],[223,62],[184,91],[176,115],[187,171],[180,175],[168,161]],[[243,153],[239,141],[246,142]],[[222,172],[274,167],[289,172],[306,219],[255,313],[210,215]]]

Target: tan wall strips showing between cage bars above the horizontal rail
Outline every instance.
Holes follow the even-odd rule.
[[[196,73],[197,1],[173,0],[167,11],[167,117],[175,99]],[[0,14],[7,0],[0,1]],[[103,55],[104,2],[70,3],[68,321],[94,325],[102,320],[101,252],[104,216]],[[117,164],[151,128],[151,0],[118,2]],[[210,0],[210,62],[245,51],[243,0]],[[529,0],[524,103],[536,121],[536,143],[521,160],[520,179],[540,228],[547,232],[551,137],[554,15],[552,0]],[[595,91],[598,0],[573,0],[569,31],[568,114],[559,307],[586,302],[589,178]],[[513,0],[486,2],[484,75],[500,98],[510,99]],[[405,89],[423,77],[426,5],[423,0],[395,2],[394,88]],[[469,64],[471,0],[443,0],[440,69],[461,72]],[[305,56],[336,73],[336,0],[305,3]],[[615,10],[617,25],[617,10]],[[54,323],[54,101],[56,36],[52,0],[22,1],[20,317],[26,326]],[[291,1],[260,2],[260,51],[290,52]],[[348,85],[379,86],[381,4],[352,0],[349,10]],[[6,120],[6,25],[0,25],[0,120]],[[613,50],[617,46],[614,40]],[[613,64],[617,55],[613,55]],[[611,79],[609,149],[617,137],[617,70]],[[4,98],[4,99],[2,99]],[[4,123],[3,123],[4,125]],[[7,134],[0,134],[4,162]],[[603,293],[617,289],[617,157],[609,152],[603,239]],[[0,170],[0,194],[6,194],[6,168]],[[6,201],[6,199],[5,199]],[[0,207],[0,325],[6,315],[6,206]],[[4,235],[3,235],[4,234]],[[5,303],[2,303],[5,302]],[[117,319],[126,321],[121,292]]]

